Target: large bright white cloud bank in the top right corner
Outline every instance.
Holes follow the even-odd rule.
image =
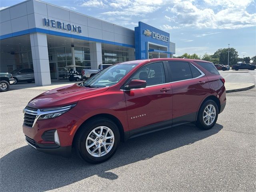
[[[256,26],[256,13],[249,14],[246,8],[253,0],[204,0],[207,8],[198,1],[174,0],[168,7],[172,20],[179,27],[238,29]],[[219,6],[219,9],[214,8]],[[169,20],[169,16],[165,17]],[[170,21],[170,20],[169,20]]]

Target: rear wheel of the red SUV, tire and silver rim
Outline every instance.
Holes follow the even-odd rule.
[[[198,112],[196,126],[208,130],[212,128],[218,119],[218,106],[213,100],[206,100]]]

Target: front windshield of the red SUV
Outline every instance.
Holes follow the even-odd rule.
[[[84,82],[85,87],[109,87],[118,83],[137,64],[116,64],[110,66]]]

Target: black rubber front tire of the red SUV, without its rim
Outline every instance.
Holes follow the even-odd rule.
[[[106,126],[112,130],[114,134],[114,145],[112,146],[112,149],[104,156],[94,157],[91,154],[89,154],[89,152],[86,149],[86,139],[90,134],[90,132],[99,126]],[[108,118],[94,118],[86,122],[85,124],[82,125],[82,127],[79,128],[74,138],[74,147],[76,148],[76,152],[78,156],[80,156],[80,158],[82,158],[83,160],[89,163],[97,164],[97,163],[102,163],[108,160],[109,158],[111,158],[116,152],[119,142],[120,142],[120,133],[119,133],[118,127],[114,122],[112,122]]]

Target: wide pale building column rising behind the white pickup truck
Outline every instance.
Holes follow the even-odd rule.
[[[98,69],[98,66],[102,64],[101,43],[90,42],[90,59],[91,59],[91,68]]]

